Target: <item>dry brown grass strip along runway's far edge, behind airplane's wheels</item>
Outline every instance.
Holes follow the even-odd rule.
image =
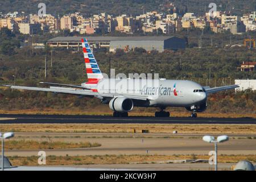
[[[112,115],[112,111],[105,109],[94,109],[95,112],[81,111],[79,109],[72,110],[53,110],[53,109],[44,109],[44,110],[36,110],[36,109],[27,109],[27,110],[0,110],[2,114],[63,114],[63,115]],[[129,113],[130,116],[142,116],[142,117],[154,117],[155,113],[152,112],[142,112],[142,111],[133,111]],[[190,115],[189,112],[178,112],[171,111],[172,117],[188,117]],[[198,113],[198,117],[203,118],[243,118],[250,117],[256,118],[255,113]]]

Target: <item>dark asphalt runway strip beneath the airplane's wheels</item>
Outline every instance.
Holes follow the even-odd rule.
[[[1,119],[3,118],[3,119]],[[252,124],[255,118],[156,118],[156,117],[127,117],[114,118],[100,115],[26,115],[0,114],[0,123],[159,123],[159,124]]]

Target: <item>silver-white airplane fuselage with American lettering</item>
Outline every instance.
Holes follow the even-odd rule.
[[[135,102],[134,106],[188,107],[207,101],[204,88],[188,80],[103,79],[92,88],[99,93],[152,98],[146,103]]]

